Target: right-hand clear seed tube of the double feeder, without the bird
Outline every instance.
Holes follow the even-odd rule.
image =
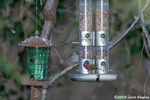
[[[109,73],[109,0],[95,2],[96,73]]]

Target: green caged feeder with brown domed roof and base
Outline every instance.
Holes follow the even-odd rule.
[[[49,41],[38,36],[30,37],[19,44],[24,47],[24,85],[42,86],[50,71],[50,47]]]

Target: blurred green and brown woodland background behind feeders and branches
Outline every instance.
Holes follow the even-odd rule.
[[[43,27],[43,5],[38,0],[38,30]],[[142,0],[142,5],[146,0]],[[35,33],[35,0],[0,0],[0,100],[29,100],[30,86],[20,84],[23,72],[23,48],[18,44]],[[78,0],[60,0],[57,23],[53,30],[52,43],[64,45],[56,47],[64,64],[55,51],[51,50],[51,75],[68,66],[68,58],[78,51],[72,44],[78,41]],[[136,0],[110,0],[110,41],[125,31],[138,15]],[[150,31],[150,7],[144,12],[145,22]],[[53,84],[47,94],[48,100],[113,100],[115,95],[150,96],[148,76],[149,61],[145,51],[140,24],[110,51],[110,68],[118,74],[110,82],[73,82],[67,75]],[[140,66],[141,62],[141,66]],[[72,72],[77,72],[74,69]]]

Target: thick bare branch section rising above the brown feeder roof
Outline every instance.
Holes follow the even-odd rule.
[[[50,34],[56,23],[56,9],[58,6],[59,0],[47,0],[44,7],[44,26],[42,30],[41,37],[49,38]]]

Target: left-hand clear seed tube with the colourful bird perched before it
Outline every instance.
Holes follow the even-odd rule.
[[[93,0],[79,0],[80,73],[91,74],[95,69]]]

